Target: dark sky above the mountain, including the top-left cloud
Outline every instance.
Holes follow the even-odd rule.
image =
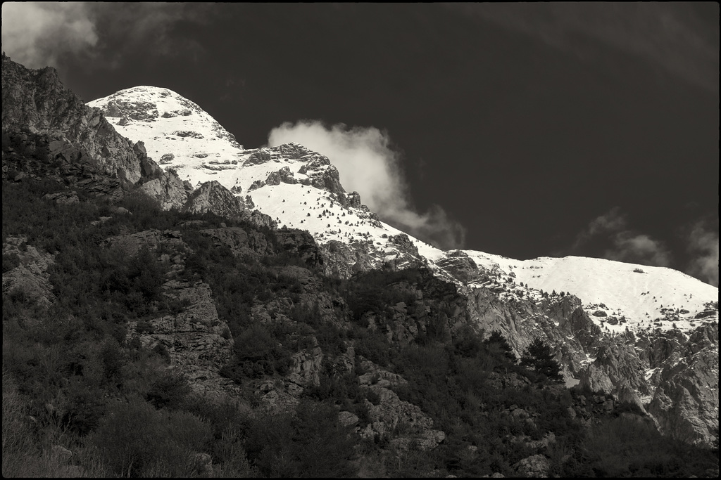
[[[86,101],[164,86],[247,148],[375,127],[443,246],[718,284],[718,4],[4,4],[2,27]]]

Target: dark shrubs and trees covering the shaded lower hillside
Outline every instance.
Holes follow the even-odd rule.
[[[3,245],[22,236],[20,250],[53,255],[52,302],[3,289],[4,476],[516,476],[514,466],[536,452],[549,475],[717,475],[717,446],[663,438],[636,407],[603,412],[593,400],[603,394],[565,389],[542,342],[518,361],[499,332],[461,325],[448,300],[454,286],[428,271],[329,279],[283,250],[270,229],[163,212],[142,198],[122,204],[132,214],[87,201],[82,191],[74,204],[42,198],[58,191],[63,186],[53,181],[3,183]],[[269,253],[237,255],[200,232],[221,222],[262,235]],[[242,398],[196,397],[169,368],[167,352],[127,335],[131,322],[142,328],[186,307],[162,289],[173,268],[168,257],[178,252],[126,255],[105,241],[150,229],[179,231],[187,245],[180,278],[211,286],[218,318],[234,338],[221,374]],[[4,275],[21,263],[4,250]],[[411,286],[423,287],[423,299]],[[276,300],[291,321],[255,319],[253,307]],[[399,304],[423,325],[408,343],[380,328]],[[255,386],[282,378],[293,354],[314,345],[324,353],[319,384],[293,412],[260,408]],[[347,371],[337,358],[350,346],[355,368]],[[373,438],[342,425],[339,410],[357,416],[362,430],[368,404],[380,402],[359,385],[363,360],[407,380],[393,391],[446,434],[440,445],[423,451],[393,443],[414,425]]]

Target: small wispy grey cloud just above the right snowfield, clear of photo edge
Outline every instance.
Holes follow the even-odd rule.
[[[670,266],[671,251],[665,243],[649,235],[635,232],[628,226],[627,217],[614,207],[596,217],[580,232],[571,250],[579,252],[592,240],[605,245],[603,258],[643,265]]]

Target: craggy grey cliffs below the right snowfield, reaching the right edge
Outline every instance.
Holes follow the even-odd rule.
[[[718,425],[718,325],[691,335],[676,330],[604,335],[575,296],[554,301],[503,302],[487,289],[466,291],[466,318],[499,331],[520,354],[536,337],[555,345],[567,379],[636,404],[660,430],[708,443]]]

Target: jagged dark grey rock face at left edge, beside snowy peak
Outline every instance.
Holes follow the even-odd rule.
[[[140,186],[166,209],[187,200],[187,186],[162,171],[143,142],[118,134],[99,109],[65,89],[53,68],[30,70],[3,55],[2,129],[10,150],[20,150],[3,152],[3,178],[11,171],[56,178],[110,201]]]

